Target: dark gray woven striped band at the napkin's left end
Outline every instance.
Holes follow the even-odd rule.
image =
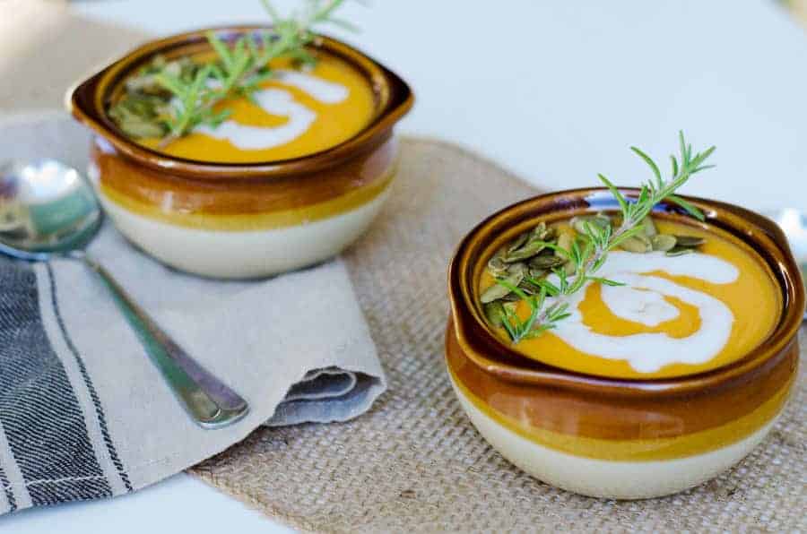
[[[54,277],[48,267],[48,293],[60,333],[70,343],[60,319]],[[4,447],[0,469],[6,511],[21,506],[56,504],[112,496],[112,487],[100,467],[85,414],[56,356],[40,313],[37,276],[26,264],[0,258],[0,424]],[[126,470],[108,435],[103,408],[82,358],[71,350],[81,379],[92,392],[92,413],[104,428],[103,446],[116,460],[117,477],[132,490]],[[14,482],[10,480],[10,475]]]

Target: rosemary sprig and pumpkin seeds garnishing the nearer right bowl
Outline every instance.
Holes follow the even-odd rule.
[[[678,158],[671,156],[672,176],[668,180],[664,180],[653,159],[638,148],[631,147],[654,175],[653,179],[641,186],[635,199],[626,198],[608,178],[598,175],[620,205],[619,226],[614,228],[611,219],[600,213],[572,220],[572,226],[577,230],[575,237],[568,234],[555,237],[551,228],[541,223],[528,237],[525,238],[524,234],[516,237],[515,249],[512,245],[506,245],[491,258],[488,270],[494,275],[496,284],[483,292],[481,297],[491,323],[504,328],[514,344],[538,337],[556,328],[560,321],[569,316],[568,297],[583,289],[586,282],[622,285],[617,280],[596,276],[596,271],[603,266],[608,253],[614,248],[636,253],[656,250],[678,255],[693,252],[702,245],[703,239],[699,237],[657,234],[649,217],[656,204],[666,201],[681,206],[692,217],[704,220],[703,213],[697,207],[676,196],[675,192],[692,175],[713,167],[704,163],[715,147],[693,154],[682,132],[679,133],[679,141],[681,153]],[[551,256],[565,260],[563,265],[555,266],[551,271],[542,270],[543,265],[552,264]],[[525,259],[528,263],[521,262]],[[547,280],[550,273],[557,277],[556,283]],[[526,319],[522,320],[516,314],[515,306],[512,306],[514,298],[523,300],[529,306],[530,314]]]

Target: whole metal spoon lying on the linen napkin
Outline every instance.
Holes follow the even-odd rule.
[[[187,413],[204,428],[247,415],[247,402],[171,340],[99,263],[84,252],[103,219],[91,186],[54,159],[0,166],[0,253],[32,262],[68,258],[98,273],[143,348]]]

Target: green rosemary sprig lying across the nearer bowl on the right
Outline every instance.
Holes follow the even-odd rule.
[[[690,213],[692,217],[704,220],[704,215],[698,208],[676,196],[675,192],[681,185],[686,184],[692,175],[714,167],[713,165],[705,165],[704,162],[712,155],[716,147],[712,146],[706,151],[693,154],[692,146],[684,140],[683,132],[679,132],[679,144],[680,154],[678,158],[670,156],[672,172],[668,180],[662,177],[662,173],[653,159],[638,148],[631,147],[630,150],[634,151],[646,162],[654,175],[653,179],[648,180],[641,186],[635,199],[626,198],[608,178],[602,174],[598,175],[620,204],[622,221],[618,228],[613,229],[610,224],[599,225],[586,221],[583,225],[585,231],[582,235],[577,236],[568,248],[545,241],[538,243],[538,245],[551,248],[567,258],[568,262],[573,266],[573,276],[570,276],[563,267],[560,267],[552,271],[558,280],[556,283],[547,279],[538,280],[525,277],[524,280],[540,288],[536,295],[527,295],[521,289],[513,287],[506,280],[496,280],[499,285],[515,293],[530,307],[530,314],[525,320],[518,317],[513,309],[502,308],[504,310],[501,314],[502,326],[508,332],[514,344],[519,343],[521,340],[538,337],[543,332],[556,328],[560,321],[570,315],[568,313],[568,297],[583,289],[586,282],[594,281],[610,286],[622,285],[616,280],[597,277],[595,273],[603,266],[610,251],[626,239],[635,237],[644,231],[641,226],[642,220],[653,211],[653,208],[659,202],[674,202],[681,206],[684,211]]]

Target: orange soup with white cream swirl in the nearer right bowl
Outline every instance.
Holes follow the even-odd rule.
[[[672,256],[612,251],[595,274],[624,285],[587,283],[570,298],[568,318],[520,340],[516,350],[591,375],[662,378],[724,366],[759,346],[782,308],[773,273],[759,255],[720,230],[655,224],[660,233],[702,237],[703,244],[693,254]],[[484,271],[480,293],[495,283]],[[530,314],[524,301],[510,306],[522,320]],[[504,328],[496,330],[510,341]]]

